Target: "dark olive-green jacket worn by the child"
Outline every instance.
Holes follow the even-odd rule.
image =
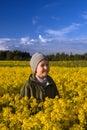
[[[42,86],[37,80],[35,75],[31,74],[29,79],[24,84],[20,92],[20,99],[24,96],[34,97],[39,102],[43,102],[46,97],[55,98],[59,96],[56,84],[50,76],[47,76],[47,81],[49,84],[47,86]]]

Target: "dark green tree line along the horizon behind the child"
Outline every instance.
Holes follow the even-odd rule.
[[[62,60],[87,60],[87,53],[85,54],[66,54],[56,53],[47,55],[50,61],[62,61]],[[0,51],[0,60],[30,60],[31,55],[29,52],[15,51]]]

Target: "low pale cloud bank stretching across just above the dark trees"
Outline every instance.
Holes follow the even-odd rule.
[[[45,54],[57,52],[85,53],[87,52],[87,38],[58,39],[55,37],[43,38],[42,35],[39,35],[39,39],[30,39],[29,37],[20,39],[4,38],[0,39],[0,50],[21,50],[31,54],[36,51]]]

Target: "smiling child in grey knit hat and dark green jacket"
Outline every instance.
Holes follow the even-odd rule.
[[[28,96],[29,98],[36,98],[38,102],[43,102],[46,97],[55,98],[56,95],[59,96],[56,84],[48,75],[50,70],[48,58],[41,53],[35,53],[31,57],[30,66],[33,74],[29,76],[23,86],[20,99]]]

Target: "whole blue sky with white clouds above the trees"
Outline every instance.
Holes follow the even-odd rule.
[[[87,0],[0,0],[0,50],[87,52]]]

